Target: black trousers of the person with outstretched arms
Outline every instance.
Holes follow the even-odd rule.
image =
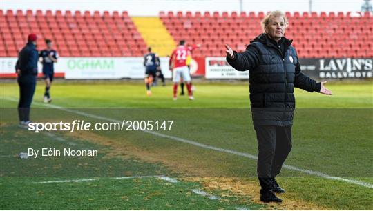
[[[291,150],[291,125],[256,127],[258,139],[257,172],[262,190],[271,189],[271,181],[276,177]]]

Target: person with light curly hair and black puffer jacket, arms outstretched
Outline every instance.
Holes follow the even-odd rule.
[[[264,33],[252,40],[245,52],[235,52],[225,45],[228,63],[238,71],[250,72],[251,115],[258,139],[260,200],[264,202],[281,202],[274,193],[285,192],[275,177],[291,150],[294,88],[332,94],[324,86],[326,81],[316,83],[300,71],[292,40],[284,37],[287,26],[283,12],[270,12],[262,20]]]

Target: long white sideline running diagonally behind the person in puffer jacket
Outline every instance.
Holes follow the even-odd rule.
[[[14,98],[3,97],[2,99],[6,99],[8,101],[18,102],[18,100],[14,99]],[[101,117],[101,116],[97,116],[95,114],[88,114],[86,112],[79,112],[79,111],[76,111],[76,110],[71,110],[71,109],[68,109],[68,108],[62,108],[61,106],[55,106],[55,105],[52,105],[52,104],[43,104],[43,103],[37,103],[37,102],[35,102],[34,104],[39,105],[39,106],[50,107],[50,108],[57,108],[58,110],[63,110],[63,111],[66,111],[66,112],[79,114],[79,115],[82,115],[84,117],[91,117],[93,119],[101,119],[101,120],[104,120],[104,121],[122,123],[122,121],[118,121],[116,119]],[[196,141],[190,141],[190,140],[182,139],[182,138],[179,138],[179,137],[173,137],[173,136],[170,136],[170,135],[161,134],[159,132],[153,132],[153,131],[149,131],[149,130],[142,130],[142,132],[147,132],[147,133],[153,134],[157,137],[164,137],[164,138],[172,139],[172,140],[179,141],[179,142],[182,142],[182,143],[188,143],[190,145],[195,145],[195,146],[198,146],[200,148],[216,150],[218,152],[227,152],[229,154],[235,154],[235,155],[238,155],[238,156],[241,156],[241,157],[247,157],[249,159],[254,159],[254,160],[258,159],[258,157],[256,157],[253,154],[248,154],[248,153],[244,153],[244,152],[237,152],[237,151],[234,151],[234,150],[227,150],[227,149],[224,149],[224,148],[217,148],[217,147],[214,147],[212,145],[206,145],[206,144],[203,144],[203,143],[198,143]],[[373,188],[373,184],[371,184],[371,183],[366,183],[366,182],[358,181],[358,180],[354,180],[354,179],[345,179],[345,178],[342,178],[342,177],[333,177],[333,176],[330,176],[328,174],[323,174],[321,172],[315,172],[313,170],[306,170],[306,169],[298,168],[298,167],[295,167],[295,166],[292,166],[292,165],[283,165],[283,168],[287,168],[289,170],[294,170],[294,171],[297,171],[297,172],[303,172],[305,174],[310,174],[310,175],[314,175],[314,176],[317,176],[317,177],[323,177],[323,178],[326,178],[326,179],[333,179],[333,180],[337,180],[337,181],[343,181],[343,182],[346,182],[346,183],[352,183],[352,184],[355,184],[355,185],[361,185],[365,188]]]

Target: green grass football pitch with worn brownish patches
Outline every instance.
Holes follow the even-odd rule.
[[[258,201],[256,160],[209,148],[256,155],[248,84],[200,82],[195,88],[195,101],[173,101],[171,85],[153,87],[147,97],[140,81],[56,81],[47,105],[39,81],[31,113],[35,122],[106,118],[172,119],[174,124],[157,134],[37,134],[17,127],[17,83],[2,81],[1,209],[373,209],[371,81],[327,83],[332,96],[296,90],[293,149],[285,163],[365,185],[283,168],[278,177],[287,190],[280,194],[282,205]],[[97,149],[99,156],[17,157],[30,147]],[[164,175],[178,182],[166,181]],[[46,181],[55,182],[40,183]]]

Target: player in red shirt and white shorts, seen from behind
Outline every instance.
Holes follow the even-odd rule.
[[[191,91],[191,75],[187,64],[190,59],[189,49],[185,46],[185,41],[181,40],[179,46],[173,50],[169,61],[170,70],[173,71],[173,100],[178,99],[177,93],[180,78],[187,84],[189,99],[194,99]]]

